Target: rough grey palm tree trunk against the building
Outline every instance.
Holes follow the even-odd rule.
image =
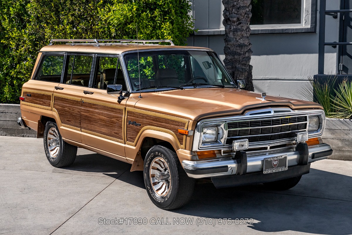
[[[250,65],[252,44],[249,40],[251,0],[222,0],[222,4],[225,7],[222,13],[222,24],[225,26],[225,67],[233,79],[246,81],[246,90],[254,91]]]

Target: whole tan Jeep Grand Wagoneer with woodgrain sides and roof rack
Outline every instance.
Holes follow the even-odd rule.
[[[165,210],[186,204],[197,178],[294,187],[332,154],[322,107],[243,86],[208,48],[56,39],[23,85],[18,123],[44,137],[54,167],[72,164],[77,147],[131,163]]]

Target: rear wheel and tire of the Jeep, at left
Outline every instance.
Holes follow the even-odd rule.
[[[47,122],[45,125],[44,150],[46,158],[54,167],[70,166],[77,155],[77,146],[63,141],[54,122]]]

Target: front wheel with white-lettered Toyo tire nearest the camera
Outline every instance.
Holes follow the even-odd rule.
[[[182,207],[192,197],[195,180],[189,178],[175,151],[153,146],[144,160],[144,184],[151,201],[164,210]]]

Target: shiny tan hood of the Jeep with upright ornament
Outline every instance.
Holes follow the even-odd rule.
[[[322,106],[304,100],[266,96],[236,88],[195,88],[161,92],[144,92],[134,105],[138,109],[155,111],[190,120],[209,117],[239,115],[258,107],[290,107],[297,109],[322,109]]]

